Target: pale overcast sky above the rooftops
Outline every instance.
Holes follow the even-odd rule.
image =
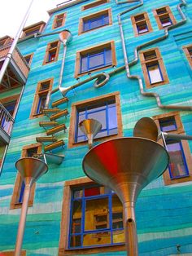
[[[15,37],[24,15],[32,0],[1,0],[0,38],[3,36]],[[53,9],[65,0],[34,0],[30,15],[25,27],[38,21],[47,21],[49,15],[46,11]]]

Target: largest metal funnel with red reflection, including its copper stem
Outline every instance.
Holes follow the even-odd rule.
[[[137,196],[168,167],[168,152],[150,139],[120,138],[100,143],[85,155],[83,170],[111,188],[124,206],[125,241],[129,256],[137,256],[134,206]]]

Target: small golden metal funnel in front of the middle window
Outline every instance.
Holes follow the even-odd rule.
[[[85,119],[79,123],[80,130],[87,136],[89,148],[93,146],[94,137],[102,129],[100,121],[95,119]]]

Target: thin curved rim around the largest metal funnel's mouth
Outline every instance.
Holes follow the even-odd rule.
[[[141,137],[120,137],[120,138],[116,138],[116,139],[108,139],[107,141],[103,141],[102,143],[99,143],[98,145],[95,145],[93,148],[91,148],[91,149],[89,150],[89,152],[87,152],[87,153],[85,154],[85,157],[83,158],[83,161],[82,161],[82,168],[83,168],[83,171],[84,171],[84,173],[86,174],[86,176],[89,177],[89,179],[92,179],[92,178],[89,176],[89,174],[86,173],[86,170],[85,170],[85,167],[84,167],[84,166],[85,166],[85,165],[84,165],[84,163],[85,163],[85,158],[86,158],[87,156],[89,156],[89,154],[90,154],[92,151],[94,151],[94,148],[96,148],[96,147],[98,147],[98,146],[100,146],[100,145],[103,145],[103,143],[109,143],[110,141],[120,140],[120,139],[138,139],[138,140],[144,140],[144,141],[148,140],[149,142],[151,142],[151,143],[153,143],[153,144],[155,143],[156,145],[158,145],[159,148],[163,148],[163,149],[164,149],[164,152],[166,152],[167,157],[168,157],[168,163],[167,163],[166,167],[164,168],[164,170],[159,174],[159,176],[161,176],[161,175],[164,173],[164,171],[168,169],[168,164],[169,164],[169,159],[170,159],[170,157],[169,157],[169,155],[168,155],[167,150],[166,150],[162,145],[160,145],[159,143],[155,142],[155,141],[152,140],[152,139],[146,139],[146,138],[141,138]],[[157,178],[159,178],[159,176],[158,176]],[[92,180],[93,180],[93,179],[92,179]],[[98,181],[97,179],[94,179],[94,181],[96,181],[97,183],[100,183],[100,184],[101,184],[101,182]]]

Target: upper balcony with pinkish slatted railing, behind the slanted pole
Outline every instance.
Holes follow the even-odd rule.
[[[2,64],[6,59],[6,56],[11,48],[11,43],[0,47],[0,69]],[[7,72],[5,73],[2,83],[0,85],[0,90],[3,88],[11,88],[14,86],[22,86],[26,83],[29,72],[29,66],[24,60],[24,56],[21,55],[19,49],[15,47],[13,54],[11,56],[10,63],[7,67]]]

